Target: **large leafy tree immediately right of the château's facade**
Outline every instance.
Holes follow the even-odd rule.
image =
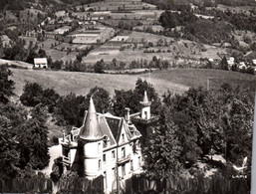
[[[154,133],[145,143],[144,168],[149,177],[169,178],[178,175],[181,143],[177,139],[178,128],[170,120],[157,123]]]

